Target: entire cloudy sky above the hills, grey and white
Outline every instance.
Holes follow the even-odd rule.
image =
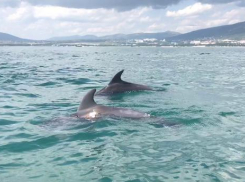
[[[245,21],[245,0],[0,0],[0,32],[29,39],[186,33]]]

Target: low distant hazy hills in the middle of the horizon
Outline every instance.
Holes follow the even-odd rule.
[[[49,41],[74,41],[74,40],[130,40],[130,39],[165,39],[167,37],[173,37],[180,35],[178,32],[159,32],[159,33],[134,33],[134,34],[113,34],[106,36],[95,36],[95,35],[85,35],[85,36],[67,36],[67,37],[53,37],[48,39]]]

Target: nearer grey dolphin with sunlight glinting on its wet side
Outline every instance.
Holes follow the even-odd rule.
[[[75,116],[77,116],[78,118],[84,118],[84,119],[89,119],[89,120],[92,120],[95,118],[101,118],[104,116],[132,118],[132,119],[150,117],[150,115],[147,113],[142,113],[142,112],[134,111],[131,109],[108,107],[108,106],[96,104],[96,102],[94,101],[95,92],[96,92],[96,89],[90,90],[84,96],[80,106],[78,107],[78,110]]]

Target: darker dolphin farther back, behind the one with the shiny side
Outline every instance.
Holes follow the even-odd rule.
[[[98,91],[96,95],[112,95],[130,91],[152,90],[150,87],[146,85],[139,85],[123,81],[121,79],[123,71],[124,70],[118,72],[112,78],[111,82],[106,87]]]

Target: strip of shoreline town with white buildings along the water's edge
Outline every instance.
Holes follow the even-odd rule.
[[[153,46],[153,47],[212,47],[212,46],[245,46],[244,40],[232,39],[212,39],[212,40],[192,40],[192,41],[166,41],[152,39],[132,39],[132,40],[108,40],[108,41],[31,41],[14,42],[0,41],[0,46]]]

